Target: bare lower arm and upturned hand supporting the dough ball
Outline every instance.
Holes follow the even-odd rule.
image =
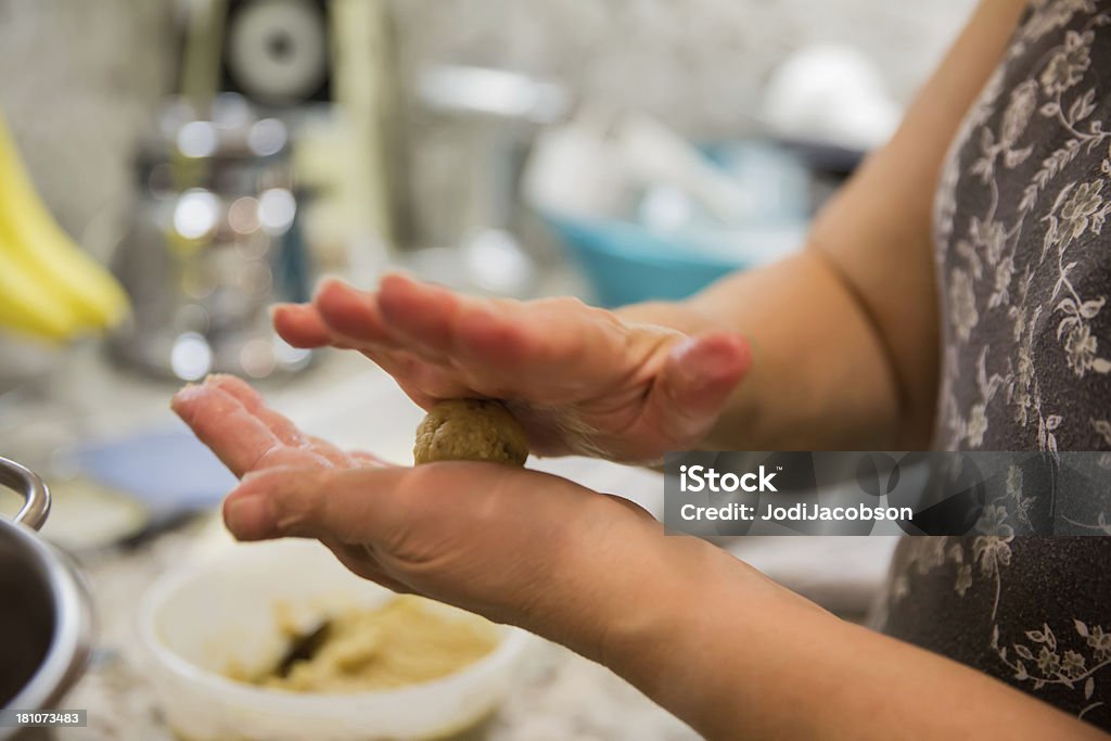
[[[564,479],[386,465],[302,434],[231,378],[173,408],[242,477],[224,503],[237,538],[318,538],[367,579],[600,661],[709,739],[1104,738]]]

